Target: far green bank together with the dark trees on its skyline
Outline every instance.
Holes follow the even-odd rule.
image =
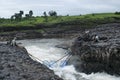
[[[46,27],[55,26],[67,26],[75,25],[79,27],[91,27],[99,24],[106,23],[119,23],[120,13],[93,13],[87,15],[77,15],[77,16],[58,16],[57,12],[50,11],[48,14],[43,13],[43,16],[33,16],[32,10],[29,14],[25,14],[22,17],[23,11],[15,13],[10,19],[0,18],[0,30],[1,31],[15,31],[15,30],[29,30],[29,29],[41,29]]]

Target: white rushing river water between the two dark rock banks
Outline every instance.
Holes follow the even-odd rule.
[[[92,73],[85,74],[77,72],[73,65],[62,66],[64,61],[59,61],[54,64],[55,61],[66,55],[66,50],[55,47],[59,44],[69,42],[69,40],[63,39],[34,39],[34,40],[22,40],[23,46],[34,57],[38,58],[39,62],[46,64],[50,69],[54,70],[55,74],[64,80],[120,80],[120,77],[112,76],[107,73]],[[35,58],[33,58],[35,59]],[[52,64],[49,66],[48,64]]]

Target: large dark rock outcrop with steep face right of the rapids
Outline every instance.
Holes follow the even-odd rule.
[[[120,24],[99,25],[89,31],[87,36],[81,34],[71,47],[72,54],[80,58],[76,70],[120,75]],[[98,41],[94,40],[95,35],[99,36]]]

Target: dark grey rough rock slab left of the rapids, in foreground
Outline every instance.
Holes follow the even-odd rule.
[[[0,44],[0,80],[63,80],[32,60],[24,48]]]

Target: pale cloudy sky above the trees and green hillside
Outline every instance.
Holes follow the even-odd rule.
[[[10,17],[23,10],[35,16],[55,10],[59,15],[80,15],[120,11],[120,0],[0,0],[0,17]]]

